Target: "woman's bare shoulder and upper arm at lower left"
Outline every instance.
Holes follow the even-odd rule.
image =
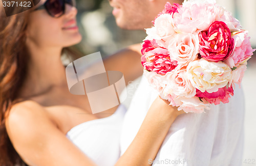
[[[5,124],[15,150],[29,165],[96,166],[34,101],[14,105]]]

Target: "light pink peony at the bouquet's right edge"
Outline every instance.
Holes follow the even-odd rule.
[[[238,67],[246,62],[251,58],[252,52],[255,51],[255,49],[251,48],[250,37],[248,37],[247,31],[233,32],[232,34],[234,35],[234,50],[231,56],[224,60],[230,68]]]

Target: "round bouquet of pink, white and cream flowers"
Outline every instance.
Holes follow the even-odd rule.
[[[167,2],[153,23],[141,63],[160,97],[186,113],[228,103],[255,50],[240,22],[216,2],[190,0]]]

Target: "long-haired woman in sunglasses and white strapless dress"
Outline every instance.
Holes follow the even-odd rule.
[[[170,125],[184,112],[157,98],[117,160],[124,108],[93,115],[87,96],[68,91],[61,52],[81,40],[73,3],[44,0],[36,10],[11,17],[1,11],[0,164],[150,165],[148,159],[155,158]]]

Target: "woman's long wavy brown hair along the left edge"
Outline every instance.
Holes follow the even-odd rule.
[[[30,57],[25,42],[30,13],[31,10],[7,17],[0,10],[0,166],[27,165],[9,139],[5,120],[11,106],[22,101],[17,94],[26,77]],[[81,57],[74,48],[63,51],[72,56],[71,60]]]

